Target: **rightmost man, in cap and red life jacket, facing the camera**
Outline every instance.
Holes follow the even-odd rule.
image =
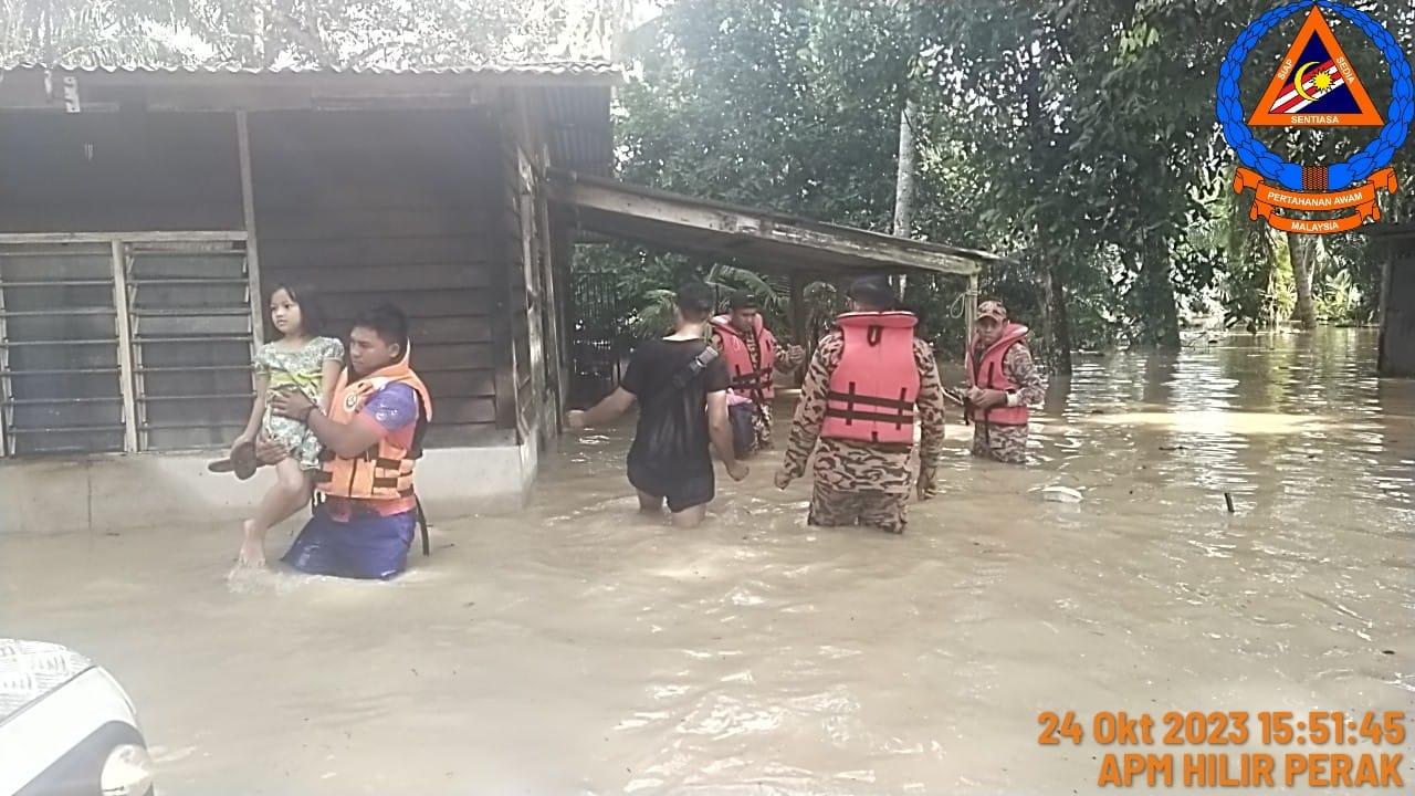
[[[1027,327],[1007,320],[1007,307],[1000,302],[978,305],[964,368],[968,371],[964,412],[974,425],[972,455],[1024,465],[1032,419],[1027,406],[1046,398],[1046,387],[1027,348]]]

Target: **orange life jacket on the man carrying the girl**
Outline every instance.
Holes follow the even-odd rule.
[[[419,453],[416,448],[420,443],[420,429],[433,418],[433,401],[427,394],[427,387],[408,367],[408,354],[403,354],[400,361],[354,384],[350,384],[348,378],[348,370],[340,374],[338,385],[334,388],[334,405],[330,406],[331,421],[350,423],[371,395],[389,384],[406,384],[417,392],[419,418],[416,422],[419,428],[415,428],[413,440],[408,443],[408,448],[395,442],[393,435],[388,435],[354,459],[344,459],[335,456],[333,450],[324,449],[320,456],[320,472],[314,476],[316,487],[324,494],[351,500],[412,497],[413,462]]]

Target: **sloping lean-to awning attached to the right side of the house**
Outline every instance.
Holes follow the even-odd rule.
[[[985,265],[1012,263],[989,252],[896,238],[573,171],[552,171],[549,184],[552,200],[573,208],[583,229],[668,251],[730,258],[760,271],[932,271],[975,276]]]

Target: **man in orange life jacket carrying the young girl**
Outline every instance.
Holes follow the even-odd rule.
[[[313,575],[388,579],[408,567],[417,525],[413,467],[432,398],[408,367],[408,317],[395,306],[355,319],[348,357],[328,415],[300,392],[270,398],[276,412],[307,423],[324,443],[316,474],[324,500],[283,561]],[[270,445],[258,440],[262,460],[283,453]]]

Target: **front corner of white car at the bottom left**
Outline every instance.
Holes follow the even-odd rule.
[[[150,796],[132,700],[74,650],[0,639],[0,796]]]

